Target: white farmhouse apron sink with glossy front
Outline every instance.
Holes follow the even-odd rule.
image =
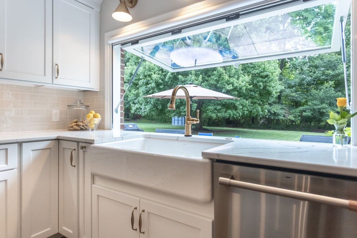
[[[202,151],[230,141],[214,137],[141,135],[91,146],[92,174],[209,202],[212,160]]]

